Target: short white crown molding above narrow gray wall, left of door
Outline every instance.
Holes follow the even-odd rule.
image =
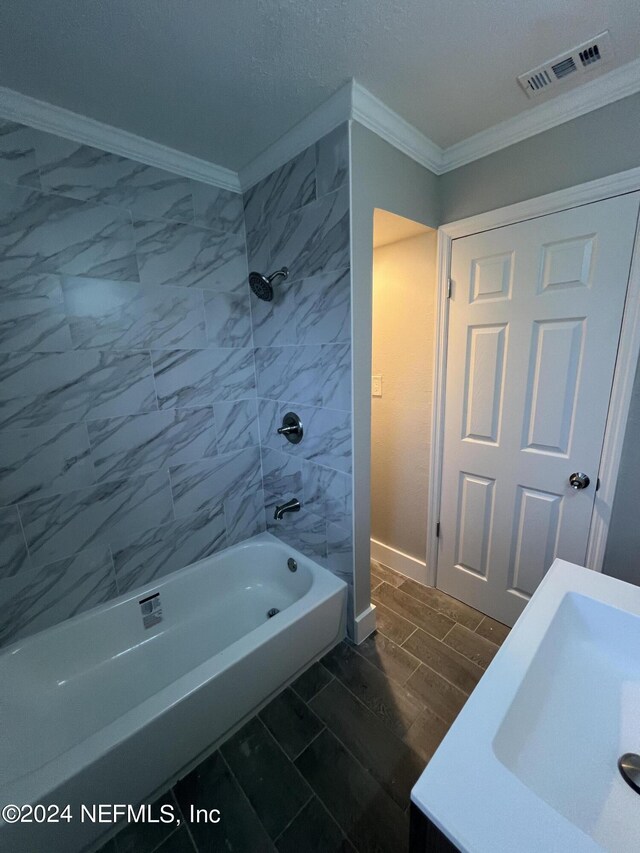
[[[443,171],[442,148],[372,95],[357,80],[353,81],[351,118],[416,163],[437,175]]]

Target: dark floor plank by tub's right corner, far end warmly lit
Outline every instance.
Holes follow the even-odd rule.
[[[399,737],[422,711],[411,693],[388,678],[346,643],[325,655],[327,669]],[[325,688],[328,689],[328,688]]]

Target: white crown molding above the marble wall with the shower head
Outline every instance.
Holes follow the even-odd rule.
[[[313,112],[294,125],[279,139],[260,152],[250,163],[240,169],[240,186],[242,191],[250,189],[258,181],[266,178],[271,172],[288,163],[292,157],[300,154],[305,148],[313,145],[325,134],[330,133],[339,124],[351,118],[351,92],[353,81],[350,80],[334,92],[326,101]]]

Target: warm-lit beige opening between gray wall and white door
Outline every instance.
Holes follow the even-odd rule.
[[[374,211],[371,557],[427,583],[437,232]],[[375,599],[375,595],[374,595]]]

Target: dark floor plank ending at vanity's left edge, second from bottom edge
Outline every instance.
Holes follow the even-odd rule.
[[[311,707],[389,796],[405,809],[411,788],[424,770],[420,756],[389,732],[337,679],[312,699]]]

